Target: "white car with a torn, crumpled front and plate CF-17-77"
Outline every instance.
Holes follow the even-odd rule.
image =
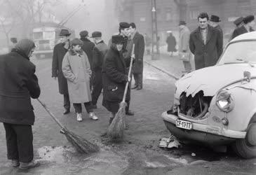
[[[175,86],[173,106],[162,114],[175,137],[256,157],[256,31],[234,38],[215,66],[187,73]]]

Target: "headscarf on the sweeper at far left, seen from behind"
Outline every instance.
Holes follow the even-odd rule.
[[[23,38],[15,45],[14,49],[16,52],[19,52],[20,55],[28,58],[29,52],[32,50],[32,48],[35,48],[36,45],[34,42],[30,39]]]

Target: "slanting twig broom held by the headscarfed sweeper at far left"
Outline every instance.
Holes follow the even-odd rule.
[[[46,104],[41,102],[40,99],[37,99],[37,101],[43,106],[43,108],[50,114],[50,116],[55,120],[55,122],[61,127],[60,133],[64,134],[65,137],[67,137],[67,140],[76,148],[76,150],[79,153],[94,153],[100,150],[100,148],[87,141],[83,137],[80,137],[79,135],[74,134],[73,132],[70,132],[67,130],[67,128],[60,123],[60,121],[53,115],[53,113],[50,112]]]

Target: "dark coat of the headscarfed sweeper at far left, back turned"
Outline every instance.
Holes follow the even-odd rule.
[[[0,55],[0,122],[34,125],[31,99],[40,95],[36,66],[29,58],[13,50]]]

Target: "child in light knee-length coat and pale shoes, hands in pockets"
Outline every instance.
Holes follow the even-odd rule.
[[[90,63],[85,52],[81,49],[83,41],[79,38],[74,38],[71,41],[71,48],[66,53],[63,63],[62,72],[67,78],[70,102],[73,103],[76,111],[76,120],[81,122],[82,118],[82,103],[89,113],[92,120],[97,120],[97,116],[93,113],[91,107],[90,95]]]

